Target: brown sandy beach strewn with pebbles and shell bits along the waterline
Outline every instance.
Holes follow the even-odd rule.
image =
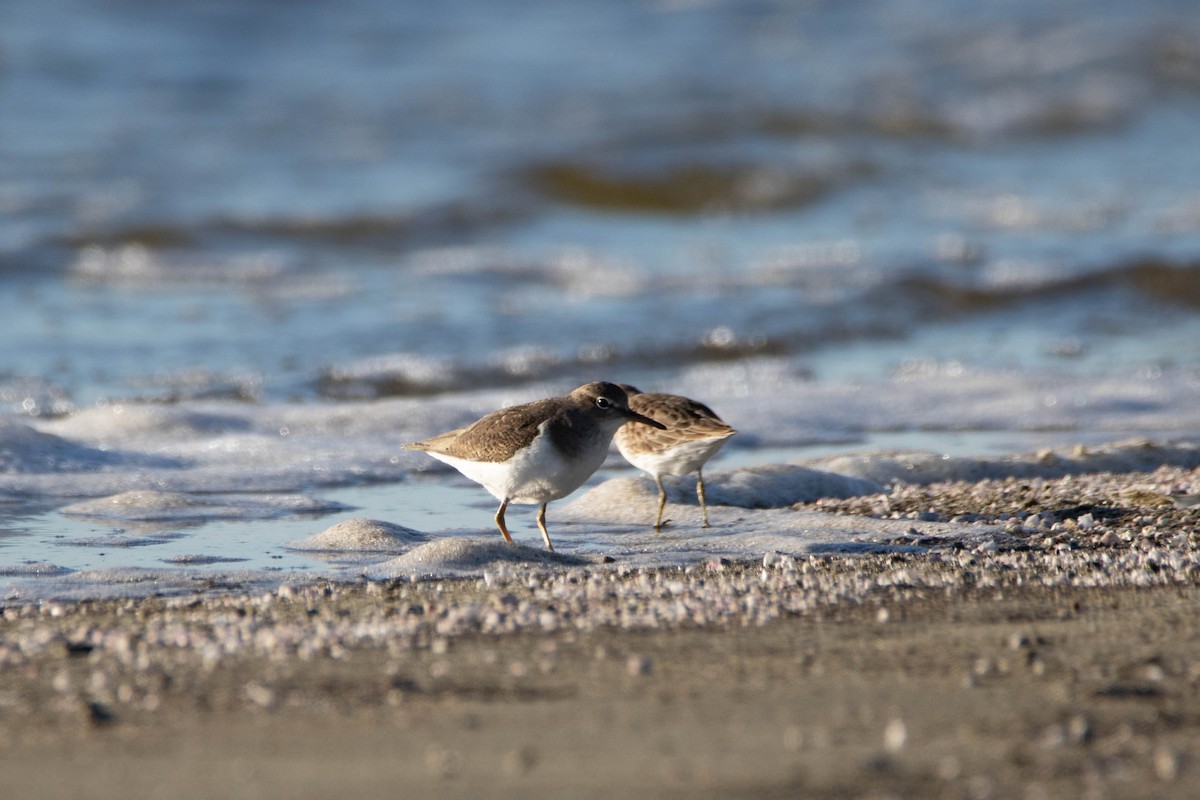
[[[0,794],[1194,796],[1194,479],[803,506],[976,551],[7,607]]]

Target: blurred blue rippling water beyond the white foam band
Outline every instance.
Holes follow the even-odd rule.
[[[1184,0],[5,6],[4,402],[1196,369],[1198,54]]]

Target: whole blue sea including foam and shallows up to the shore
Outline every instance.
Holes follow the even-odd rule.
[[[1194,437],[1193,11],[6,6],[0,572],[492,535],[398,445],[595,378],[716,408],[713,470]],[[151,489],[224,509],[61,511]]]

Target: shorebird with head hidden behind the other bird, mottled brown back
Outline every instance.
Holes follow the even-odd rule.
[[[704,464],[716,455],[725,440],[737,431],[703,403],[659,392],[643,393],[622,384],[629,407],[664,425],[658,428],[624,425],[617,431],[617,449],[634,467],[649,473],[659,486],[659,516],[654,530],[662,529],[662,510],[667,505],[664,475],[696,473],[696,497],[708,528],[708,503],[704,500]]]

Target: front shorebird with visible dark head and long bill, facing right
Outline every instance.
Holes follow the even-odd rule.
[[[546,504],[565,498],[600,469],[617,428],[662,423],[629,408],[617,384],[590,383],[565,397],[492,411],[463,428],[404,445],[450,464],[500,501],[496,527],[511,542],[504,512],[510,503],[541,504],[538,528],[546,530]]]

